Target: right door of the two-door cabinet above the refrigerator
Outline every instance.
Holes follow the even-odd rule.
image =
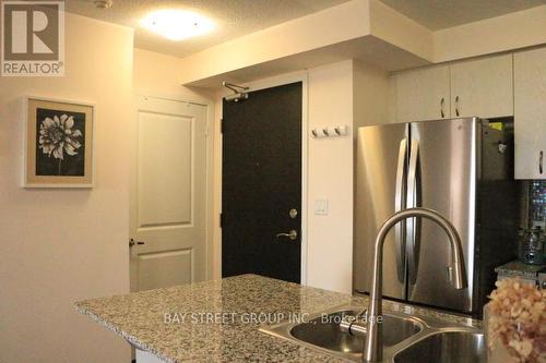
[[[450,66],[451,117],[513,114],[512,55]]]

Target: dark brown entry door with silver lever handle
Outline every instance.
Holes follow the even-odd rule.
[[[300,282],[301,83],[224,100],[222,129],[223,277]]]

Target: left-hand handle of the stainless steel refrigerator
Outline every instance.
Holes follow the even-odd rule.
[[[407,155],[407,140],[403,138],[399,147],[399,162],[396,168],[396,191],[394,195],[394,211],[405,209],[406,198],[406,155]],[[405,222],[401,221],[394,227],[394,238],[396,244],[396,271],[399,281],[405,281]]]

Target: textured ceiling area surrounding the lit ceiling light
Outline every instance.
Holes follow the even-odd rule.
[[[135,46],[185,57],[286,21],[334,7],[347,0],[114,0],[109,9],[96,9],[93,0],[67,0],[67,11],[135,28]],[[146,29],[139,22],[159,9],[192,10],[213,19],[213,33],[171,41]]]

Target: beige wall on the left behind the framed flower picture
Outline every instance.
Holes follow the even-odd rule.
[[[67,14],[66,76],[0,77],[0,362],[130,360],[73,302],[124,293],[131,29]],[[21,187],[23,95],[96,104],[96,187]]]

